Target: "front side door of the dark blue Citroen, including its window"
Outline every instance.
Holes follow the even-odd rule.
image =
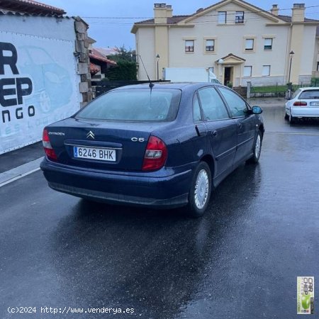
[[[218,90],[228,104],[231,117],[237,123],[236,164],[247,159],[247,156],[252,153],[257,130],[256,117],[249,112],[250,107],[246,101],[235,92],[222,86],[218,86]]]

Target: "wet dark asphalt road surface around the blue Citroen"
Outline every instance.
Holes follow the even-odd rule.
[[[0,318],[117,317],[41,306],[297,318],[296,276],[319,278],[319,125],[291,127],[283,107],[264,118],[259,164],[225,179],[200,219],[87,203],[49,189],[41,172],[1,187]],[[10,315],[14,306],[37,313]]]

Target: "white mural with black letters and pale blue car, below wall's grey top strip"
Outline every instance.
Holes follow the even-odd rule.
[[[74,43],[0,31],[0,154],[79,110]]]

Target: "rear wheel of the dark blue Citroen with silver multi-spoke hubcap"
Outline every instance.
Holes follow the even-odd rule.
[[[195,169],[187,213],[193,218],[203,216],[211,198],[211,169],[206,162],[200,162]]]

